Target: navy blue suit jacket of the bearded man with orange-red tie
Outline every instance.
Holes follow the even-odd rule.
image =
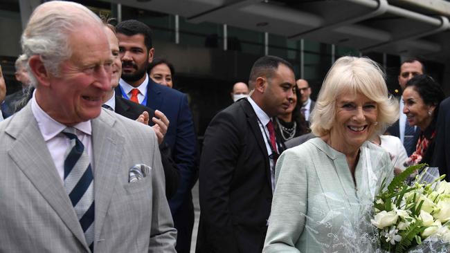
[[[119,87],[116,88],[116,94],[121,94]],[[172,88],[156,84],[149,77],[147,107],[162,111],[170,121],[164,141],[172,151],[172,158],[177,163],[181,176],[177,194],[169,201],[170,210],[174,214],[197,180],[196,137],[188,97]]]

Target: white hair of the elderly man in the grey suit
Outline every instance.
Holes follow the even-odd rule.
[[[37,6],[30,17],[21,36],[24,61],[33,55],[39,55],[45,68],[55,76],[59,76],[60,64],[72,55],[69,46],[69,35],[76,28],[87,24],[99,24],[102,21],[91,10],[80,3],[69,1],[49,1]],[[30,83],[37,85],[37,80],[30,71]]]

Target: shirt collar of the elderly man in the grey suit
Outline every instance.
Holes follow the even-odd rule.
[[[37,104],[36,101],[36,90],[33,92],[33,97],[31,98],[31,111],[33,111],[33,115],[36,118],[37,125],[39,130],[42,133],[45,141],[54,138],[57,134],[61,133],[66,128],[66,125],[53,120],[44,110],[42,110],[41,106]],[[91,135],[91,120],[80,122],[73,126],[75,129],[82,131],[87,135]]]

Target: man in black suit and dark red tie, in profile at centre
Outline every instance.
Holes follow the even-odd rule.
[[[251,95],[218,113],[206,129],[197,252],[262,251],[276,159],[284,149],[271,118],[289,107],[296,79],[289,62],[264,56],[253,64],[249,84]]]

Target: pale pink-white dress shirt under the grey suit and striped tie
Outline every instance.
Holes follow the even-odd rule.
[[[37,126],[42,133],[42,137],[47,144],[48,151],[55,162],[57,173],[60,175],[61,180],[64,181],[64,157],[67,149],[70,147],[70,139],[62,133],[66,128],[64,124],[53,120],[42,108],[37,104],[35,98],[35,92],[31,98],[31,111],[36,118]],[[84,145],[84,149],[89,155],[89,161],[93,169],[93,154],[92,154],[92,140],[91,140],[91,121],[80,122],[73,126],[77,129],[76,133],[78,139]]]

